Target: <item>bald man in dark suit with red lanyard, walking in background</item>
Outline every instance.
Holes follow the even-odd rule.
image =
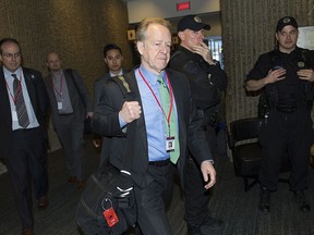
[[[93,116],[89,94],[76,71],[62,70],[58,53],[48,53],[47,66],[50,73],[44,81],[52,125],[65,153],[69,183],[76,182],[77,189],[82,190],[85,186],[84,121]]]

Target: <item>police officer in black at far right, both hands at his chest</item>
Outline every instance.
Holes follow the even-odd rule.
[[[297,47],[298,23],[291,16],[276,26],[275,50],[262,54],[249,73],[249,91],[262,90],[267,103],[259,135],[262,168],[258,208],[270,211],[270,193],[276,191],[281,159],[288,153],[291,163],[290,190],[303,212],[311,211],[304,190],[307,188],[310,147],[314,132],[311,120],[313,103],[313,51]]]

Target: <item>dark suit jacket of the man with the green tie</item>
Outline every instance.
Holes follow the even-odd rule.
[[[202,118],[196,114],[196,108],[192,102],[188,78],[173,70],[167,70],[167,74],[173,89],[179,119],[180,158],[177,164],[182,183],[184,176],[183,169],[188,160],[188,145],[198,163],[204,160],[212,160],[212,154],[204,131],[200,128]],[[134,92],[135,99],[142,106],[134,71],[124,74],[124,77],[129,83],[130,89]],[[108,158],[111,164],[118,169],[122,169],[124,154],[132,157],[132,178],[140,187],[145,187],[153,181],[153,178],[147,180],[147,181],[144,181],[144,175],[148,168],[145,113],[143,112],[138,120],[128,124],[126,132],[124,128],[121,129],[118,115],[125,101],[125,97],[123,97],[119,86],[112,79],[107,82],[104,89],[104,96],[93,116],[94,129],[98,134],[106,136],[101,158]],[[133,125],[133,128],[131,125]],[[130,146],[132,146],[132,152],[130,152],[130,149],[125,149],[128,140],[130,141]]]

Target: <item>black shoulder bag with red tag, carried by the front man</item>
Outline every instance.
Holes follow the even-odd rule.
[[[124,77],[112,79],[126,100],[134,99]],[[130,132],[135,125],[131,123],[128,128]],[[130,173],[132,158],[128,156],[133,152],[133,145],[129,139],[123,156],[124,168],[119,171],[107,159],[106,165],[89,176],[82,191],[75,219],[85,235],[120,235],[135,225],[137,212]]]

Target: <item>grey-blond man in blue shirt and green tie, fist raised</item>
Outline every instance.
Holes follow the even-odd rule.
[[[106,145],[110,146],[108,151],[102,151],[101,158],[109,158],[118,169],[123,168],[124,156],[132,158],[131,178],[142,233],[170,235],[172,230],[165,202],[171,196],[174,166],[181,182],[185,176],[188,145],[201,165],[206,189],[215,184],[216,171],[200,128],[202,120],[192,102],[188,78],[165,70],[170,59],[170,23],[160,17],[143,20],[136,33],[136,48],[141,65],[124,75],[134,99],[125,100],[116,79],[109,79],[104,86],[93,125],[108,138]],[[166,108],[166,101],[170,102],[170,108]]]

